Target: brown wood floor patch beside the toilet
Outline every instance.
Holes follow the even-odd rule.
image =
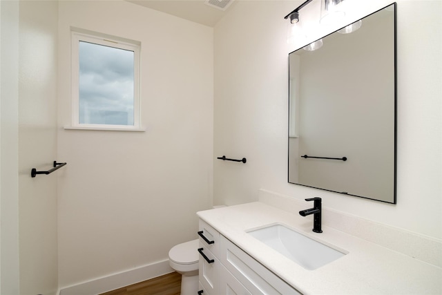
[[[100,295],[180,295],[181,274],[172,272]]]

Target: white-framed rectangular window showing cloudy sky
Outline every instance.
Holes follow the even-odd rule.
[[[72,128],[140,130],[140,42],[72,32]]]

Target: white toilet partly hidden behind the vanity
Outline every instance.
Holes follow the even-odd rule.
[[[198,243],[198,239],[183,242],[169,251],[169,264],[181,274],[181,295],[198,293]]]

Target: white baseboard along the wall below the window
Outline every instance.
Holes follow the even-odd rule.
[[[136,269],[130,269],[125,272],[111,274],[102,278],[96,278],[84,283],[79,283],[70,287],[63,287],[59,290],[59,295],[95,295],[112,291],[143,280],[149,280],[170,274],[173,269],[169,265],[169,260],[162,260]]]

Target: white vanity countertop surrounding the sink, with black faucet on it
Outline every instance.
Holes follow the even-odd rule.
[[[442,294],[440,267],[332,227],[323,226],[323,233],[316,234],[311,218],[298,212],[251,202],[200,211],[198,216],[302,294]],[[348,254],[318,269],[304,269],[247,234],[276,223]]]

